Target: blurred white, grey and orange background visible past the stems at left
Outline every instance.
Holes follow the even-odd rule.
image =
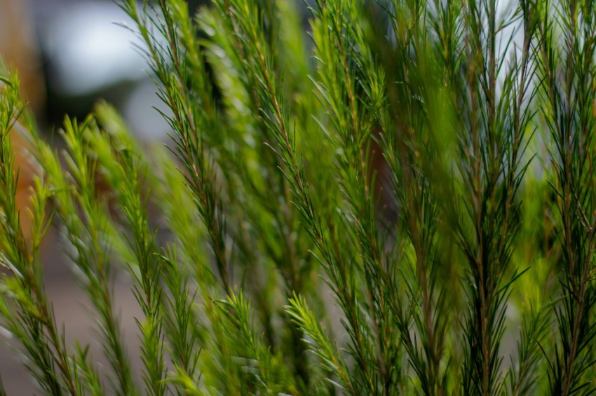
[[[189,6],[204,3],[191,0]],[[121,25],[130,26],[130,20],[112,0],[0,0],[0,56],[8,67],[18,70],[39,129],[57,149],[60,139],[54,139],[55,130],[65,114],[83,118],[100,98],[121,111],[140,141],[167,139],[168,125],[152,107],[165,109],[155,95],[147,63],[135,50],[140,41]],[[22,171],[18,200],[23,207],[29,199],[34,166],[20,150],[24,140],[15,136],[13,144]],[[57,323],[67,323],[69,341],[90,343],[91,353],[101,357],[87,297],[70,271],[54,230],[43,249],[46,289]],[[116,279],[114,294],[131,348],[128,353],[139,367],[134,317],[140,315],[140,308],[130,293],[128,278]],[[1,329],[0,376],[8,395],[39,393]]]

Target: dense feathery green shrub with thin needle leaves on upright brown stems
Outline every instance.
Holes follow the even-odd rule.
[[[61,161],[18,78],[0,83],[0,323],[43,392],[596,390],[592,1],[318,0],[310,40],[290,0],[196,17],[182,0],[119,4],[169,108],[169,151],[102,103],[66,119]],[[15,133],[43,170],[27,214]],[[51,224],[107,372],[53,317]],[[142,384],[113,271],[142,308]]]

